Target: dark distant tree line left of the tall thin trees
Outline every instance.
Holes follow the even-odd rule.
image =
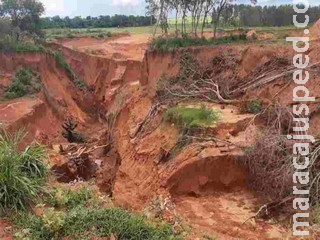
[[[156,22],[154,18],[148,16],[99,16],[86,18],[59,16],[41,18],[41,27],[49,28],[111,28],[111,27],[138,27],[150,26]]]

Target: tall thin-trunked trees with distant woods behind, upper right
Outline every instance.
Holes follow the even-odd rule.
[[[292,5],[257,6],[257,0],[248,0],[252,5],[234,4],[234,0],[145,0],[147,14],[157,19],[156,28],[161,27],[168,33],[169,16],[175,16],[176,35],[191,33],[203,36],[205,27],[212,27],[214,37],[218,26],[289,26],[293,25],[292,16],[296,13]],[[299,8],[303,8],[302,5]],[[310,7],[307,14],[310,23],[320,17],[320,7]],[[298,14],[298,21],[304,22],[305,14]],[[155,32],[156,33],[156,30]]]

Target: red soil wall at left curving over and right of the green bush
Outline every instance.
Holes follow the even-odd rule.
[[[83,95],[65,70],[57,66],[52,56],[40,53],[2,53],[0,59],[1,71],[13,73],[21,67],[28,67],[40,73],[43,94],[58,118],[73,115],[81,122],[88,120],[87,114],[78,105]]]

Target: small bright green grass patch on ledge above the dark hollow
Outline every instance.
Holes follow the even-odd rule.
[[[164,120],[181,128],[201,128],[218,122],[219,114],[205,107],[173,107],[165,112]]]

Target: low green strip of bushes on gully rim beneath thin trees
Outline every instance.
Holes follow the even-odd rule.
[[[247,41],[246,35],[232,35],[217,39],[206,39],[206,38],[154,38],[149,44],[151,50],[170,51],[177,48],[184,48],[190,46],[207,46],[207,45],[219,45],[227,44],[232,42]]]

